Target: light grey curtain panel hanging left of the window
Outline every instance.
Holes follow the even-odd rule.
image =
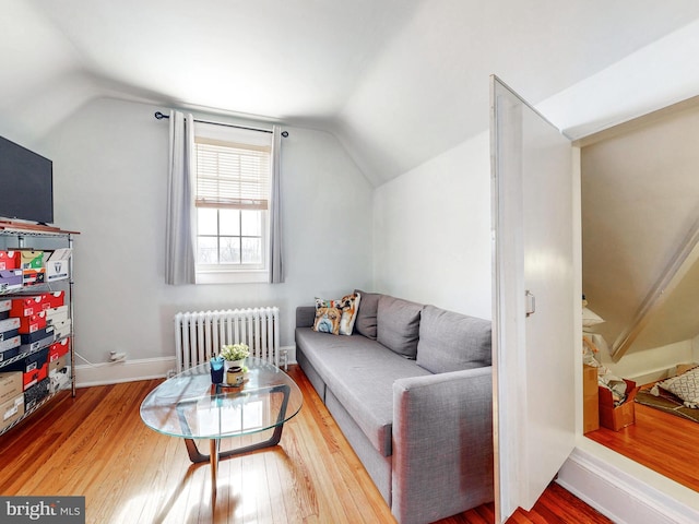
[[[165,283],[176,286],[196,283],[193,152],[193,117],[170,111]]]

